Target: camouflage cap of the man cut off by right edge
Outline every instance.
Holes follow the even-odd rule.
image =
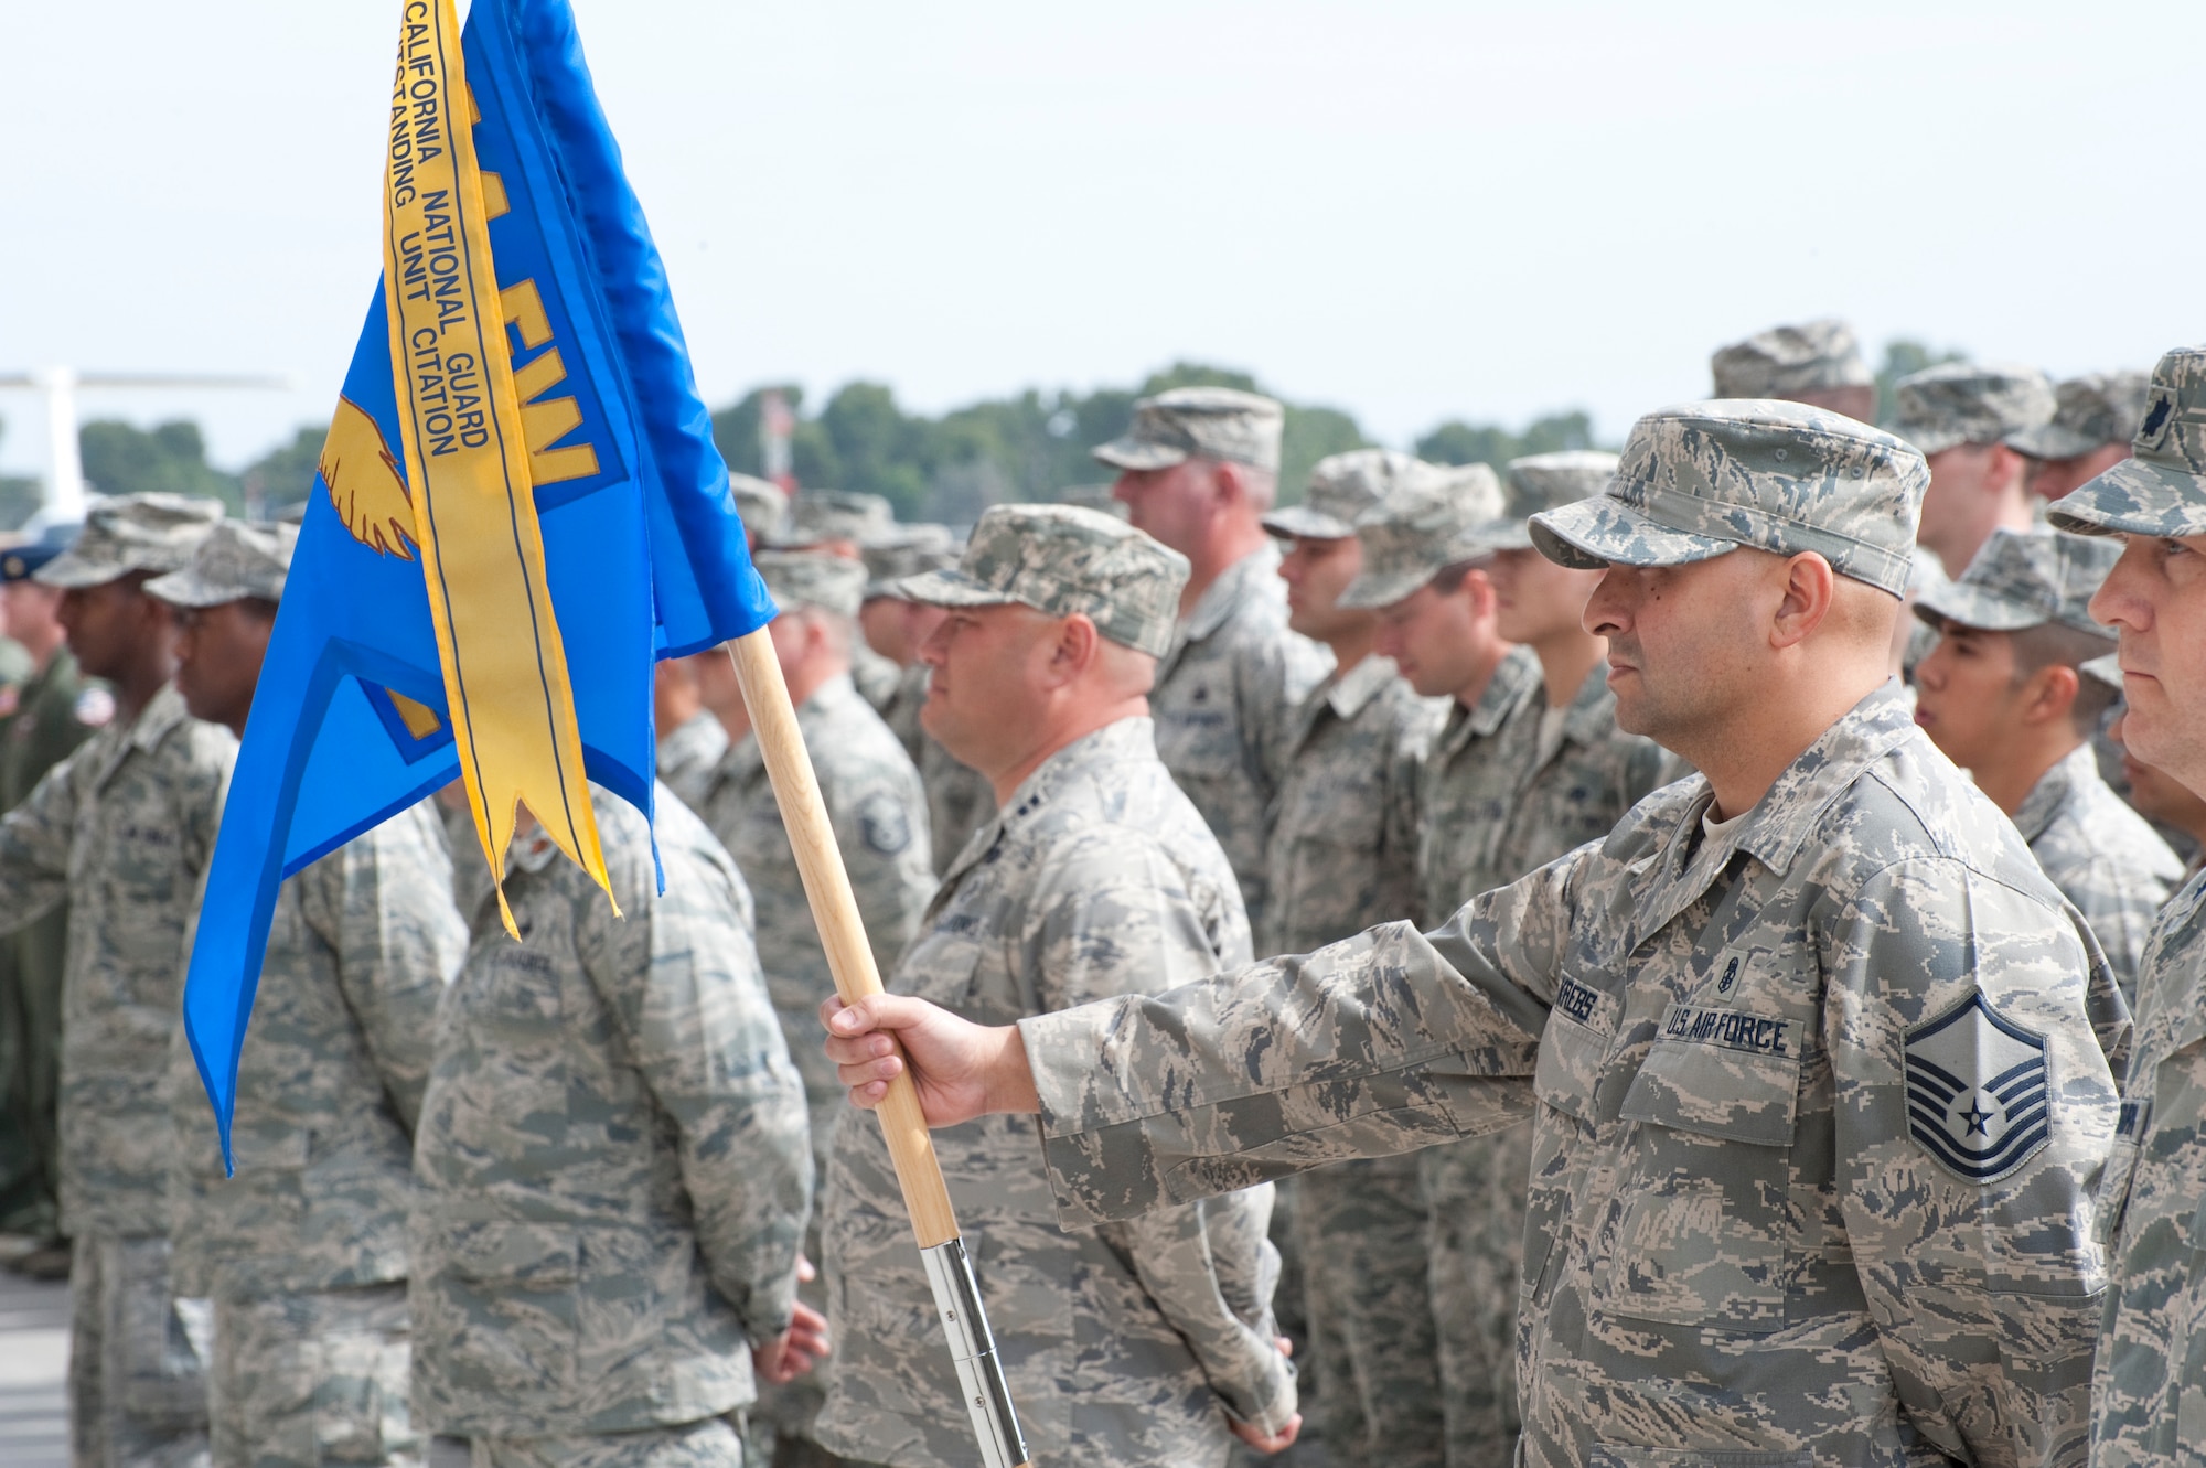
[[[2131,450],[2047,518],[2082,536],[2206,536],[2206,346],[2177,346],[2153,368]]]

